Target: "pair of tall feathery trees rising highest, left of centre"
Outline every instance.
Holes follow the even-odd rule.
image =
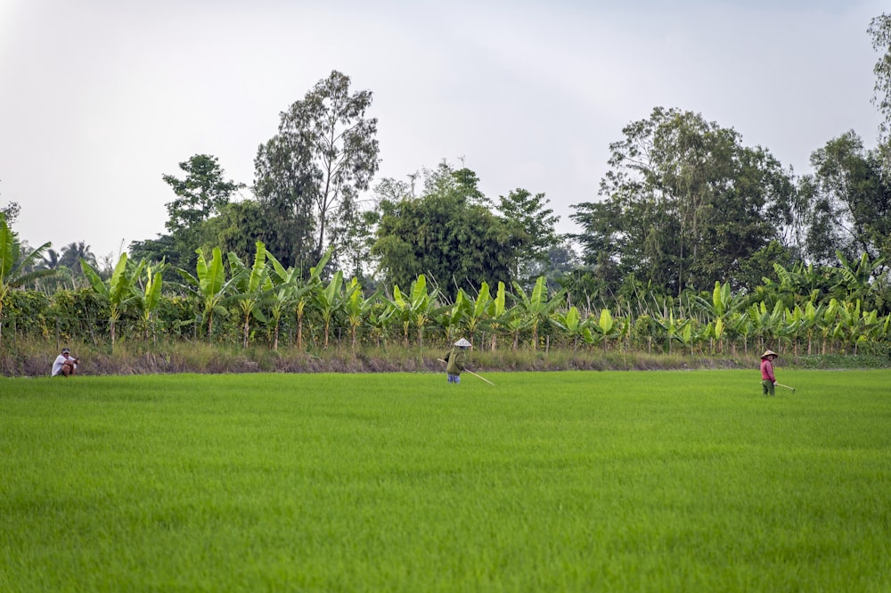
[[[329,248],[335,262],[350,259],[359,194],[380,149],[377,119],[366,116],[372,92],[350,93],[349,85],[333,70],[282,111],[278,134],[257,151],[257,198],[270,219],[270,249],[285,265],[305,267]]]

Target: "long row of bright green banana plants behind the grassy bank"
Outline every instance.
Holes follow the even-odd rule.
[[[14,256],[16,248],[0,219],[0,250],[12,249]],[[626,281],[630,291],[614,308],[576,304],[566,289],[549,291],[545,276],[538,276],[529,290],[518,282],[510,288],[483,282],[473,290],[459,287],[452,298],[421,274],[405,288],[394,284],[369,295],[356,276],[347,280],[341,270],[323,276],[332,250],[306,276],[283,266],[261,242],[249,260],[233,251],[224,255],[218,247],[207,255],[199,248],[196,255],[195,268],[177,268],[181,281],[166,292],[168,264],[137,262],[126,253],[107,278],[81,259],[89,287],[51,294],[13,291],[15,284],[45,273],[13,268],[0,284],[0,318],[12,325],[12,340],[55,335],[96,346],[107,343],[112,351],[120,336],[151,347],[159,340],[201,340],[278,350],[286,332],[287,346],[298,350],[355,351],[388,343],[438,347],[464,336],[488,350],[748,355],[769,344],[795,354],[891,354],[891,313],[882,316],[864,305],[872,290],[866,254],[857,262],[845,261],[835,276],[830,270],[837,268],[774,264],[781,282],[751,293],[732,292],[729,283],[715,282],[710,292],[686,291],[675,299]],[[829,291],[807,292],[827,282]]]

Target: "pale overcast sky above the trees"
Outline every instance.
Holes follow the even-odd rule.
[[[164,233],[193,154],[250,185],[281,111],[340,70],[373,93],[377,179],[446,159],[497,200],[597,199],[608,146],[653,107],[701,113],[797,174],[875,144],[876,0],[0,0],[0,206],[32,246],[115,260]],[[244,197],[249,197],[245,190]]]

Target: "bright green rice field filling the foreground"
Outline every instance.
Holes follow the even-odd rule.
[[[0,379],[0,590],[887,591],[891,372]]]

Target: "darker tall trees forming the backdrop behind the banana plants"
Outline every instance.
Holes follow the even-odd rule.
[[[732,128],[656,107],[609,145],[598,199],[571,207],[580,230],[570,235],[557,233],[546,194],[518,187],[493,200],[475,171],[447,161],[409,181],[372,184],[380,162],[377,120],[367,115],[372,93],[352,91],[350,79],[333,71],[282,111],[277,133],[258,146],[251,197],[236,199],[247,186],[227,179],[213,155],[193,155],[179,164],[181,174],[164,175],[174,195],[167,233],[131,243],[120,274],[140,262],[160,274],[169,298],[186,299],[181,271],[197,272],[219,250],[233,280],[237,262],[256,258],[262,243],[295,280],[339,275],[366,301],[375,294],[393,301],[396,286],[423,277],[436,286],[439,306],[502,284],[516,305],[544,278],[568,309],[655,317],[642,311],[689,304],[717,283],[771,310],[779,302],[789,310],[829,307],[835,299],[884,317],[891,313],[891,16],[873,19],[868,33],[882,54],[873,102],[886,123],[876,148],[846,132],[815,150],[812,172],[797,177]],[[11,204],[3,218],[14,221],[17,209]],[[61,257],[50,247],[20,255],[31,257],[18,261],[27,259],[18,269],[29,278],[18,285],[47,295],[95,288],[118,271],[111,261],[97,266],[84,243]]]

